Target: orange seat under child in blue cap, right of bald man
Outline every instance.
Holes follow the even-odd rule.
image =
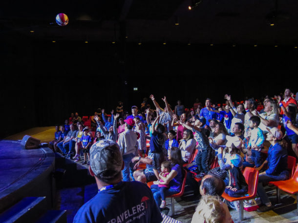
[[[234,201],[240,202],[240,208],[239,208],[240,221],[243,221],[243,200],[251,200],[255,198],[256,190],[257,190],[258,175],[259,175],[259,171],[257,171],[255,168],[245,167],[243,176],[245,178],[246,183],[248,184],[249,196],[234,198],[234,197],[230,197],[225,192],[221,195],[224,199],[226,199],[229,202],[234,202]]]

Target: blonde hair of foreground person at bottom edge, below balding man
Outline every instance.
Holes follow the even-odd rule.
[[[226,212],[218,196],[201,197],[192,217],[192,223],[222,223]]]

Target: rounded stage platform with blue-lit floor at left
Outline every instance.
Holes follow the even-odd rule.
[[[51,149],[25,149],[21,141],[0,141],[0,213],[25,197],[45,197],[53,204],[55,154]]]

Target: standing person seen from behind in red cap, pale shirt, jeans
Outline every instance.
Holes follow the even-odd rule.
[[[134,121],[132,118],[124,120],[125,131],[119,134],[118,145],[120,147],[120,152],[124,161],[123,180],[130,181],[129,178],[129,163],[131,159],[135,156],[138,148],[138,138],[140,137],[138,132],[132,130],[134,126]],[[132,173],[131,173],[132,175]]]

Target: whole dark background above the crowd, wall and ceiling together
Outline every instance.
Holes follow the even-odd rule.
[[[192,107],[226,93],[298,91],[297,0],[202,0],[189,10],[194,1],[0,2],[0,138],[120,100],[129,111],[151,93],[161,106],[166,95]]]

